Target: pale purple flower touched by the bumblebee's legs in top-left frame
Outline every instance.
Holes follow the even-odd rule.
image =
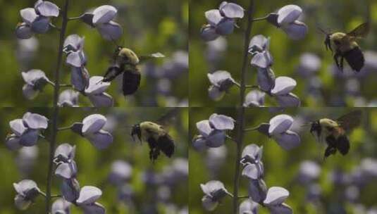
[[[93,76],[89,79],[89,87],[85,89],[85,94],[94,107],[111,107],[113,98],[105,91],[110,86],[110,82],[103,82],[104,77]]]

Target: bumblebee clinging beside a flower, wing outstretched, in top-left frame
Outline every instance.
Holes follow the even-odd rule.
[[[114,63],[109,66],[104,75],[103,82],[111,82],[118,75],[123,73],[123,94],[124,96],[135,94],[140,86],[139,64],[149,58],[165,57],[162,53],[153,53],[149,56],[138,57],[134,51],[128,48],[118,46],[114,52]]]

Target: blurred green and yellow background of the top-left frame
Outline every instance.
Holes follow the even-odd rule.
[[[62,8],[63,1],[53,2]],[[0,1],[0,63],[3,68],[0,84],[5,89],[0,92],[0,106],[52,106],[53,89],[50,85],[33,101],[27,101],[22,93],[24,82],[21,72],[40,69],[53,80],[58,55],[57,30],[37,34],[32,39],[16,39],[16,25],[21,21],[19,11],[34,4],[34,0]],[[161,52],[166,56],[142,65],[142,82],[135,96],[125,99],[121,92],[121,75],[114,80],[107,93],[113,96],[115,106],[187,106],[187,0],[70,1],[68,16],[79,16],[104,4],[118,8],[116,22],[124,30],[118,44],[133,49],[139,55]],[[61,18],[56,18],[53,23],[60,25]],[[80,21],[68,23],[68,34],[85,37],[89,75],[104,75],[116,45],[105,41],[97,30]],[[63,64],[61,82],[69,83],[70,68]],[[84,96],[80,96],[79,101],[80,106],[91,106]]]

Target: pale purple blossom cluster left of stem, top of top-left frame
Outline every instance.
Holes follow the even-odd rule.
[[[23,23],[17,25],[18,39],[29,39],[34,33],[46,33],[50,28],[50,18],[58,17],[59,8],[50,1],[38,0],[34,8],[20,10]]]

